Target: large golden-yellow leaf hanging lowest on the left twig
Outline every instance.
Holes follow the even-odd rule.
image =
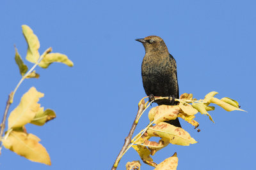
[[[40,139],[33,134],[12,131],[6,139],[4,137],[3,145],[26,159],[51,165],[49,154],[44,146],[38,143],[39,141]]]

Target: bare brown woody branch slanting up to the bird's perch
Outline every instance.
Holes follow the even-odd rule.
[[[129,144],[131,144],[132,134],[134,133],[134,130],[135,130],[137,124],[138,124],[138,118],[140,117],[140,115],[143,112],[143,110],[145,110],[145,101],[144,101],[144,99],[142,99],[140,101],[140,103],[139,103],[138,113],[137,113],[136,118],[135,118],[135,120],[134,120],[134,122],[132,124],[131,130],[130,130],[128,136],[125,138],[124,146],[123,146],[122,150],[120,151],[120,153],[118,154],[118,156],[116,157],[115,164],[113,164],[111,170],[115,170],[116,169],[120,159],[124,155],[124,153],[127,150]]]

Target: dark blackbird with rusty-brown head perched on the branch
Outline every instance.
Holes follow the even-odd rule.
[[[141,64],[141,76],[144,90],[149,100],[154,96],[172,97],[156,100],[158,105],[176,105],[174,99],[179,99],[179,85],[177,79],[177,65],[173,56],[169,53],[166,44],[159,36],[147,36],[135,39],[143,44],[145,56]],[[166,121],[168,124],[181,127],[179,118]]]

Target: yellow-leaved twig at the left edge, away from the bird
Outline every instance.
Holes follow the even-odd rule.
[[[36,73],[35,67],[40,66],[42,68],[49,67],[53,62],[61,62],[67,66],[72,67],[74,64],[68,57],[61,53],[51,53],[52,48],[48,48],[40,55],[38,52],[40,43],[37,36],[33,33],[32,29],[28,25],[22,25],[22,32],[28,43],[28,50],[26,60],[34,64],[28,71],[28,66],[24,64],[22,57],[15,47],[15,62],[19,66],[19,71],[22,76],[21,80],[17,84],[17,87],[11,92],[8,102],[6,104],[6,111],[4,117],[8,113],[10,104],[13,103],[13,97],[22,81],[27,78],[39,78],[39,74]],[[20,99],[19,105],[10,113],[8,117],[8,130],[4,136],[1,134],[1,142],[3,146],[26,159],[51,165],[51,159],[47,150],[42,146],[40,139],[34,134],[29,134],[26,131],[26,124],[34,124],[42,126],[46,122],[56,118],[56,114],[53,110],[44,110],[38,103],[39,99],[44,97],[44,94],[38,92],[35,87],[31,87],[26,94]],[[5,126],[5,118],[1,124],[1,132]],[[2,146],[1,146],[2,148]],[[0,150],[1,150],[0,148]]]

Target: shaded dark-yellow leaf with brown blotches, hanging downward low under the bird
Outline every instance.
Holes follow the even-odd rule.
[[[153,159],[150,157],[150,150],[146,146],[141,146],[141,145],[132,145],[132,148],[136,150],[136,152],[139,153],[141,160],[145,163],[148,164],[149,166],[156,167],[157,164],[153,162]]]

